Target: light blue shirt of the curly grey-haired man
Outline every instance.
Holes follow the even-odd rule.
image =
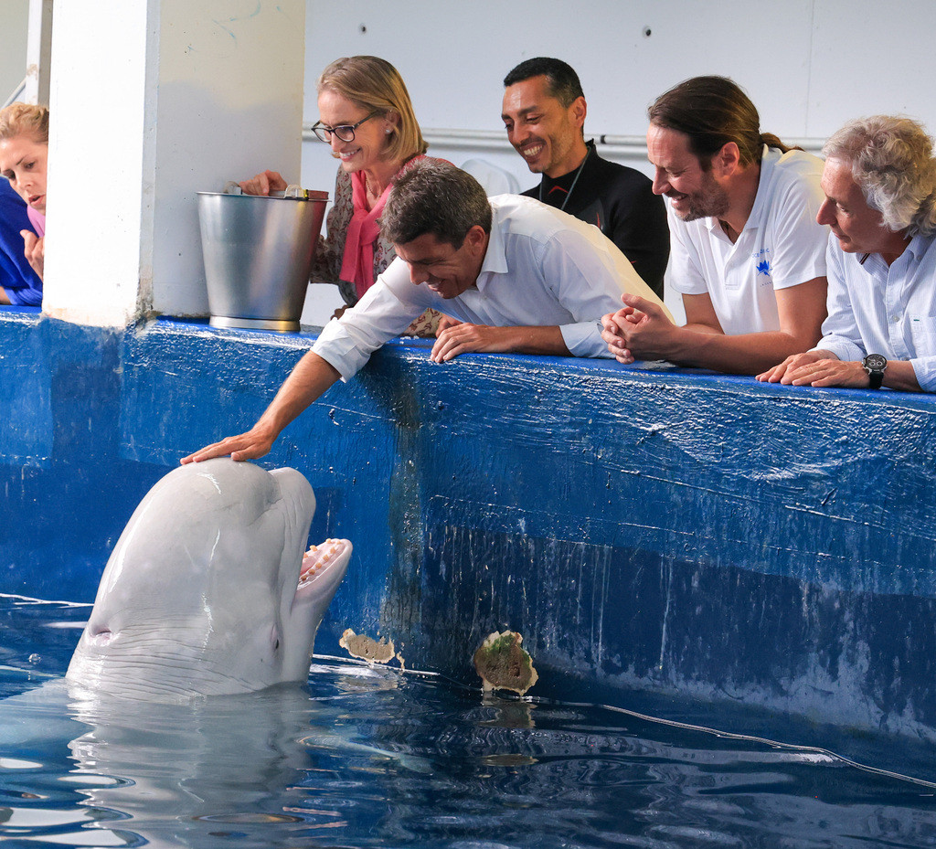
[[[914,236],[890,266],[880,254],[846,254],[830,236],[826,264],[828,318],[816,348],[848,361],[909,360],[920,388],[936,391],[936,234]]]

